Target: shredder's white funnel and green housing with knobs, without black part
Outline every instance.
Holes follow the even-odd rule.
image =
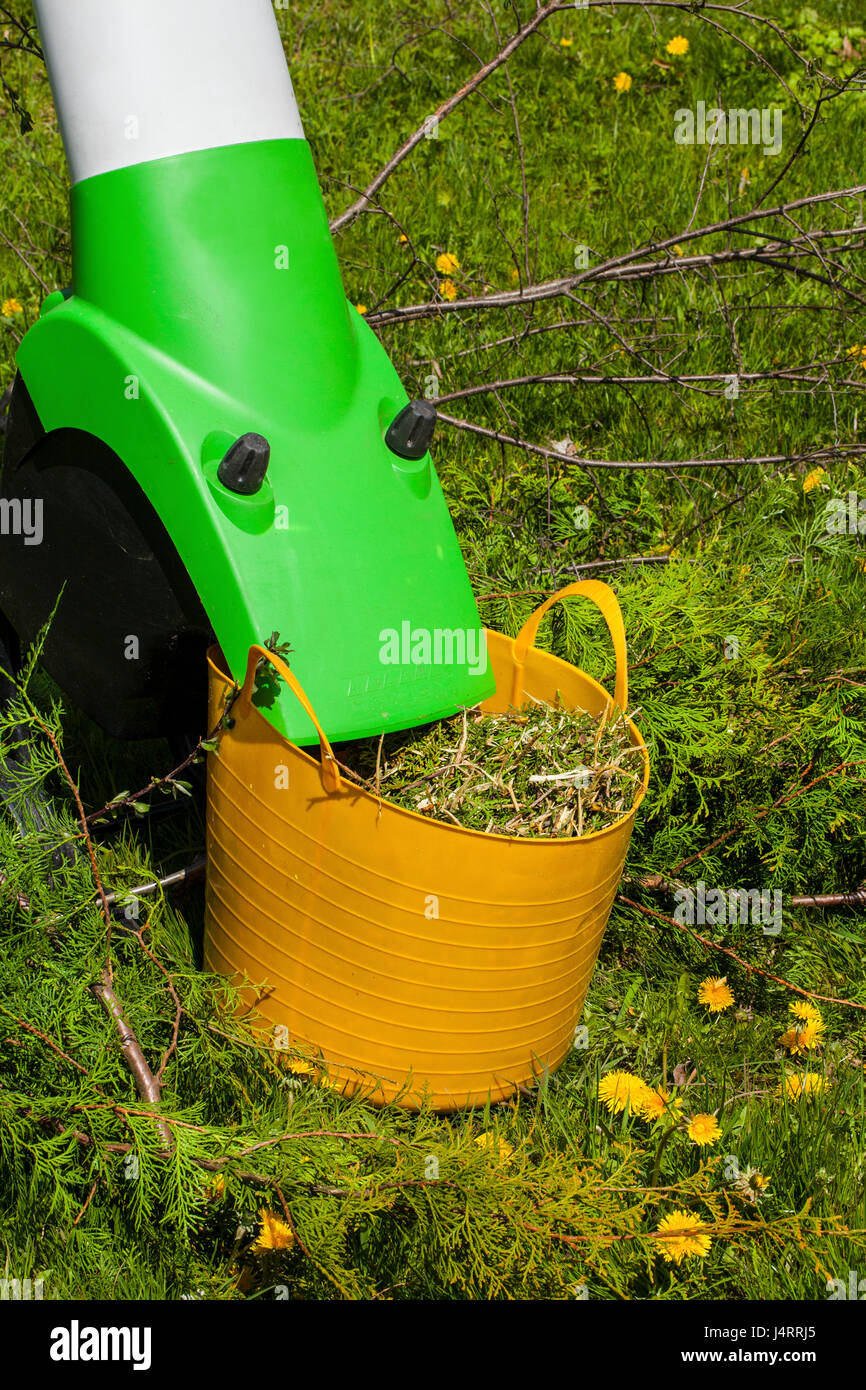
[[[74,257],[18,352],[42,428],[122,461],[235,676],[278,631],[332,739],[484,699],[430,410],[395,424],[406,391],[346,300],[268,0],[36,13]],[[314,741],[292,699],[265,713]]]

